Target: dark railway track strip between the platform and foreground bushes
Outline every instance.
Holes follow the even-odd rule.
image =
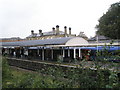
[[[28,70],[41,70],[45,67],[63,67],[63,68],[89,68],[91,70],[97,70],[94,62],[88,61],[88,62],[80,62],[79,64],[72,64],[72,63],[57,63],[52,61],[36,61],[36,60],[26,60],[26,59],[17,59],[17,58],[7,58],[9,65],[16,66],[19,68],[24,68]],[[118,63],[119,64],[119,63]],[[110,71],[118,72],[120,73],[120,65],[119,67],[109,67],[111,66],[108,64],[102,65],[100,69],[109,69]]]

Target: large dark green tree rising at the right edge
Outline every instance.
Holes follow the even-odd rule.
[[[103,14],[98,21],[96,34],[111,39],[120,39],[120,2],[112,4],[106,14]]]

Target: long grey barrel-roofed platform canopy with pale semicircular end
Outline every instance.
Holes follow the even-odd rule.
[[[3,47],[25,47],[25,46],[47,46],[47,45],[61,45],[61,46],[71,46],[71,45],[88,45],[88,41],[81,37],[60,37],[53,39],[43,39],[43,40],[26,40],[26,41],[16,41],[16,42],[2,42]]]

